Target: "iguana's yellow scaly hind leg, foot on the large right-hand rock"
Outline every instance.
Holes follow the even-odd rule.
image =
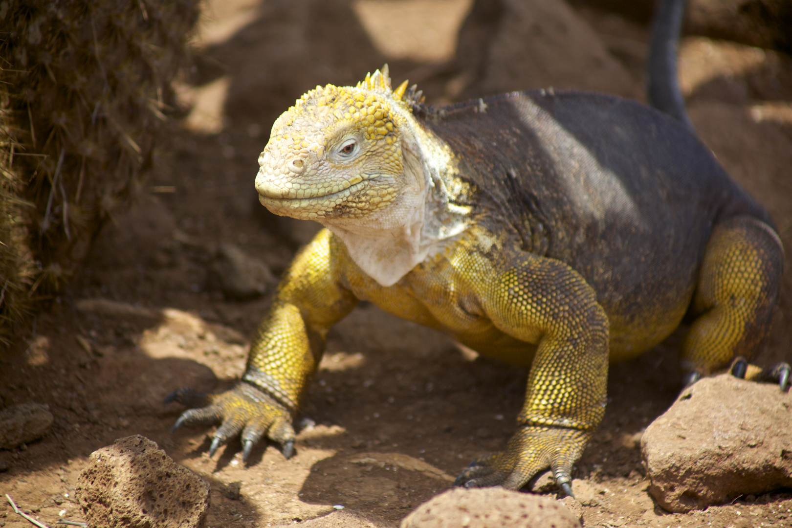
[[[782,268],[781,241],[766,223],[737,217],[714,228],[693,295],[695,321],[683,344],[689,383],[733,363],[741,378],[775,376],[786,385],[786,364],[774,367],[774,374],[743,359],[752,357],[770,330]]]

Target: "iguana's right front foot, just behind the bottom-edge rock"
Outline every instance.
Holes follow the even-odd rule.
[[[537,473],[550,468],[558,485],[571,496],[572,465],[590,437],[588,431],[577,429],[524,426],[508,441],[505,451],[474,460],[454,484],[465,488],[500,485],[518,490]]]

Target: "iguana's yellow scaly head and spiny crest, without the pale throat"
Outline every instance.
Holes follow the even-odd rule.
[[[406,211],[393,206],[423,187],[405,171],[406,88],[390,88],[385,66],[355,87],[317,86],[303,95],[276,120],[258,158],[261,203],[276,215],[323,223],[398,222]]]

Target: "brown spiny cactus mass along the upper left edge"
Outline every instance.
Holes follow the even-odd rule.
[[[3,248],[17,264],[2,254],[0,279],[16,289],[0,303],[0,339],[19,333],[32,303],[62,291],[101,225],[154,167],[198,4],[0,2],[8,180],[0,230],[6,245],[12,225],[13,236],[24,228],[26,238],[16,249]]]

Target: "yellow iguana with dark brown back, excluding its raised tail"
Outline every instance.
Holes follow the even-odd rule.
[[[608,363],[683,319],[687,383],[730,368],[785,388],[788,365],[744,359],[770,326],[781,241],[691,127],[596,93],[422,101],[383,67],[354,87],[317,86],[276,120],[259,199],[326,229],[281,279],[242,381],[177,390],[169,401],[191,409],[174,430],[220,422],[210,455],[241,434],[245,460],[265,436],[290,457],[327,332],[361,300],[530,367],[516,433],[463,470],[466,487],[519,489],[550,468],[571,495]]]

